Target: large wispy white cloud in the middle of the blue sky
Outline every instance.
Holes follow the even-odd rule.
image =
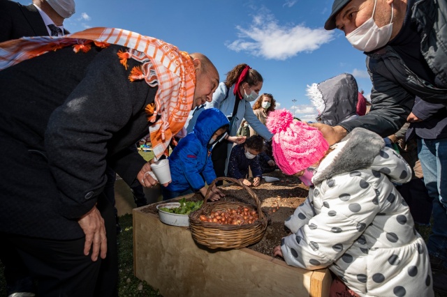
[[[249,28],[236,26],[237,40],[227,43],[235,52],[248,52],[265,59],[286,60],[300,52],[312,52],[332,40],[333,31],[311,29],[302,24],[281,26],[272,15],[256,15]]]

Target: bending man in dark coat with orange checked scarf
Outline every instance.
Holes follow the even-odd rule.
[[[152,86],[129,79],[142,63],[128,59],[124,67],[119,56],[126,47],[89,46],[78,54],[67,46],[0,71],[0,241],[20,254],[38,296],[116,296],[115,218],[103,195],[105,166],[126,183],[156,184],[147,162],[127,148],[147,135],[156,93],[167,93],[166,83],[158,75],[160,83]],[[172,49],[166,52],[182,57],[182,81],[189,82],[172,83],[189,93],[177,100],[188,102],[181,109],[186,118],[186,110],[211,100],[219,74],[205,56]],[[160,114],[163,98],[177,104],[169,94],[157,99]],[[174,116],[165,112],[161,117],[173,127]]]

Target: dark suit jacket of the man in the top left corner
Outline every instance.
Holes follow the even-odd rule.
[[[48,36],[37,8],[10,0],[0,0],[0,43],[24,36]],[[64,34],[69,32],[64,29]]]

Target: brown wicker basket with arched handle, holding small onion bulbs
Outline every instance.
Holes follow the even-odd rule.
[[[207,203],[207,197],[210,195],[210,190],[217,181],[229,181],[240,185],[244,190],[249,192],[249,195],[253,197],[256,202],[258,211],[258,220],[252,224],[218,224],[214,222],[203,222],[200,220],[200,215],[209,215],[212,211],[223,211],[227,208],[236,209],[239,206],[248,206],[241,202],[229,202],[229,201],[215,201]],[[237,249],[244,248],[248,245],[261,241],[267,229],[268,218],[261,209],[261,202],[256,194],[235,178],[219,177],[216,178],[210,187],[203,201],[203,206],[197,211],[193,211],[189,214],[189,228],[193,239],[205,245],[208,248],[223,248],[223,249]]]

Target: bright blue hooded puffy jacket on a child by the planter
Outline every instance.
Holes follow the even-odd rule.
[[[179,141],[169,157],[172,182],[168,185],[171,192],[182,192],[188,188],[198,191],[214,181],[216,174],[212,166],[211,145],[208,144],[214,132],[229,121],[219,109],[205,109],[196,121],[193,132]],[[205,181],[203,181],[203,178]]]

